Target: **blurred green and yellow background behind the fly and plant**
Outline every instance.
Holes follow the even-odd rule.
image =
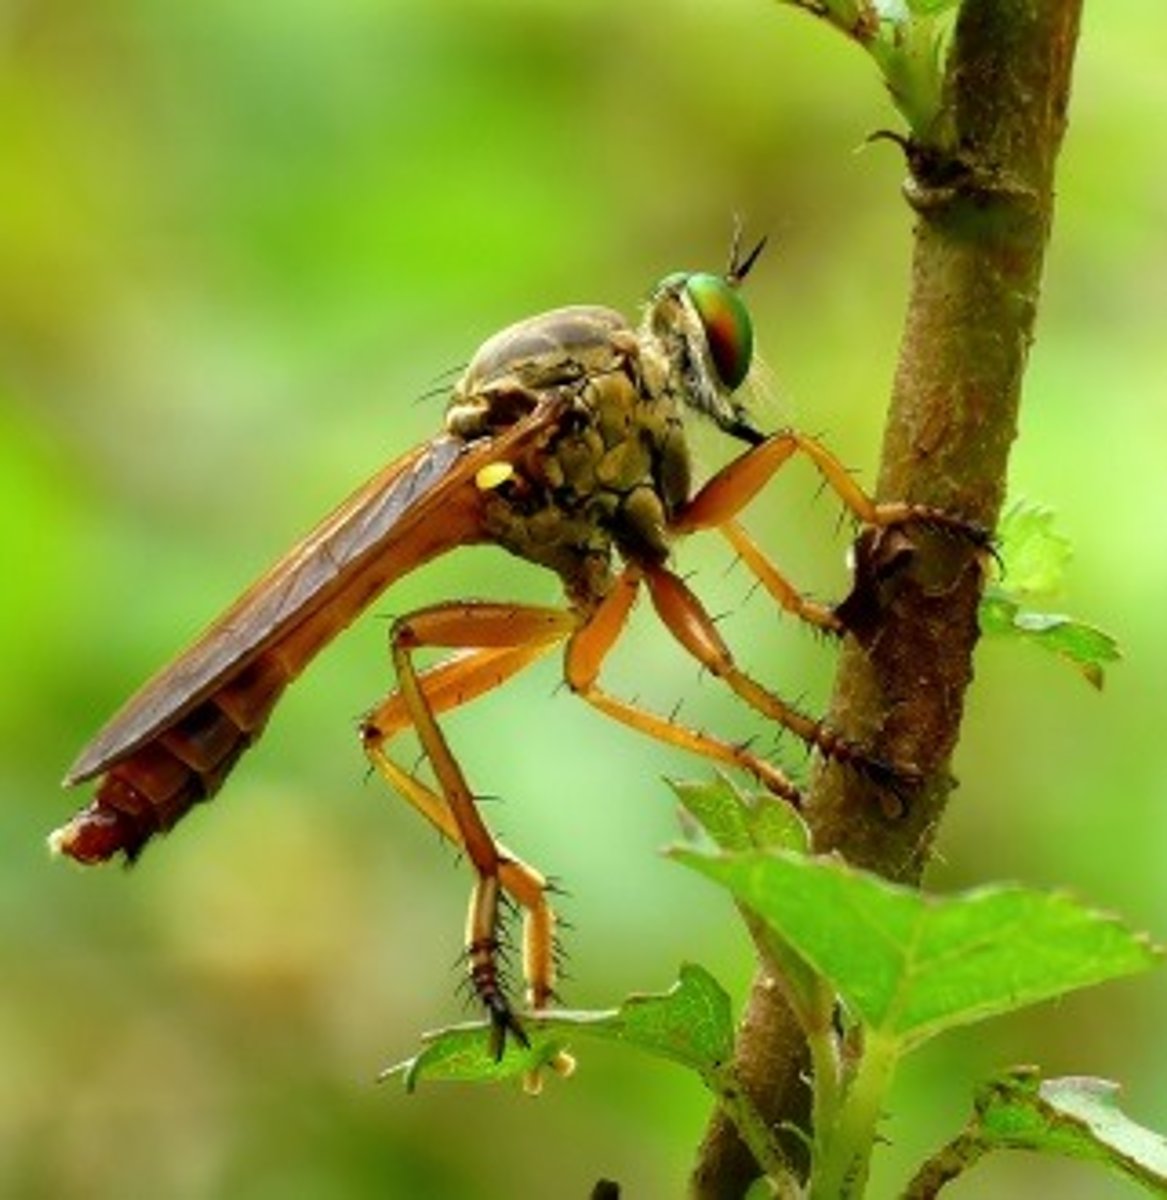
[[[0,1194],[677,1195],[708,1108],[677,1068],[581,1049],[517,1091],[377,1087],[461,1019],[468,877],[365,780],[355,720],[389,685],[385,623],[293,690],[211,809],[133,871],[52,864],[82,743],[294,536],[439,425],[417,401],[517,317],[634,310],[717,268],[732,218],[766,424],[821,432],[872,479],[910,248],[874,71],[765,0],[10,2],[0,13]],[[1069,607],[1121,641],[1102,696],[987,644],[930,872],[1065,886],[1167,935],[1162,323],[1167,17],[1089,5],[1012,488],[1057,508]],[[716,466],[717,438],[701,454]],[[796,577],[843,586],[834,506],[791,468],[752,526]],[[726,570],[687,571],[744,661],[821,704],[832,655]],[[495,551],[406,581],[551,602]],[[750,724],[647,613],[617,689],[736,736]],[[491,816],[559,875],[568,1001],[660,989],[678,962],[740,997],[728,902],[664,862],[663,774],[705,768],[604,722],[557,666],[449,720]],[[504,752],[499,752],[504,746]],[[786,748],[789,752],[789,746]],[[408,757],[414,752],[405,749]],[[797,761],[796,761],[797,762]],[[1037,1061],[1121,1080],[1167,1127],[1167,980],[1138,979],[910,1060],[876,1195],[964,1120],[971,1081]],[[1001,1158],[953,1198],[1126,1196],[1095,1169]]]

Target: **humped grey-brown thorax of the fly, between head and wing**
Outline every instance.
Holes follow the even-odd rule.
[[[490,338],[454,390],[448,430],[497,436],[540,400],[562,401],[545,438],[480,482],[484,528],[556,571],[574,604],[612,582],[612,551],[660,562],[668,518],[689,491],[689,456],[656,347],[610,308],[559,308]]]

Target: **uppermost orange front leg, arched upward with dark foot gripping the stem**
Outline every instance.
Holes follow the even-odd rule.
[[[891,526],[922,521],[972,536],[976,541],[983,538],[969,522],[929,504],[910,504],[906,500],[876,503],[825,445],[796,430],[780,430],[723,467],[681,508],[671,528],[677,533],[693,533],[723,524],[737,516],[795,454],[806,455],[814,463],[836,496],[864,524]]]

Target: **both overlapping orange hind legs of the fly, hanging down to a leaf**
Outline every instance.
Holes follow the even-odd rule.
[[[525,1040],[498,979],[499,887],[523,910],[523,973],[532,1008],[545,1007],[553,995],[555,914],[546,900],[544,877],[502,847],[486,828],[436,714],[499,685],[562,641],[576,624],[577,618],[565,610],[491,602],[435,605],[401,618],[390,638],[399,688],[361,726],[365,754],[377,772],[465,848],[478,875],[467,918],[468,965],[474,989],[495,1026],[498,1054],[508,1030]],[[419,672],[412,653],[421,647],[467,653]],[[418,733],[437,778],[437,791],[384,751],[384,743],[406,727]]]

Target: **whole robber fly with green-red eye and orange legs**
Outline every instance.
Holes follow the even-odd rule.
[[[653,290],[640,325],[611,308],[557,308],[504,329],[453,389],[445,430],[375,475],[249,588],[190,649],[137,692],[82,751],[66,785],[96,796],[52,835],[82,863],[134,859],[222,786],[263,731],[285,688],[390,583],[457,546],[492,542],[549,568],[562,607],[447,601],[394,622],[397,686],[363,720],[370,763],[451,842],[474,871],[467,964],[493,1046],[525,1036],[499,977],[502,894],[523,914],[527,1004],[555,992],[555,914],[547,882],[487,829],[437,718],[563,648],[568,686],[650,737],[738,767],[791,803],[798,790],[746,745],[688,728],[610,694],[600,668],[644,587],[680,644],[747,704],[824,757],[863,766],[862,750],[783,701],[734,660],[700,600],[669,565],[670,546],[716,529],[786,610],[831,632],[834,610],[804,599],[737,523],[792,455],[810,458],[864,524],[953,523],[906,503],[876,504],[822,445],[792,430],[759,432],[735,398],[753,353],[735,239],[724,275],[676,274]],[[711,420],[746,450],[700,490],[690,484],[686,425]],[[423,648],[453,652],[426,670]],[[389,756],[415,731],[433,782]]]

